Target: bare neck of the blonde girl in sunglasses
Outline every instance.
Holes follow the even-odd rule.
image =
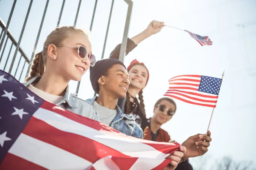
[[[45,71],[34,87],[49,94],[64,96],[68,83],[63,77]]]

